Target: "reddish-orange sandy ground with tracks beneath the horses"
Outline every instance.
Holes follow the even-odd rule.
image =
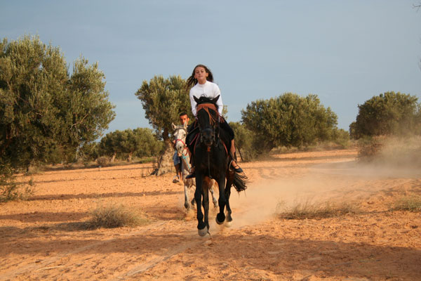
[[[27,202],[0,204],[0,280],[421,280],[421,215],[389,211],[421,194],[421,171],[363,166],[355,150],[275,155],[243,163],[231,228],[210,214],[199,237],[173,175],[151,166],[46,171]],[[21,177],[19,181],[29,181]],[[346,200],[359,214],[286,220],[276,207]],[[83,230],[100,204],[150,220],[136,228]]]

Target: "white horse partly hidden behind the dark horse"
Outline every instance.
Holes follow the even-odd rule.
[[[196,187],[196,181],[194,178],[188,178],[186,179],[186,176],[190,174],[190,157],[189,153],[187,152],[187,145],[186,145],[186,136],[187,136],[187,124],[184,125],[175,125],[171,124],[173,126],[173,138],[175,142],[175,150],[177,151],[178,157],[180,157],[181,160],[181,176],[182,176],[182,182],[184,183],[184,190],[185,190],[185,208],[188,210],[194,204],[196,201],[194,200],[194,196],[192,198],[192,201],[189,201],[189,190],[192,189],[192,187]],[[210,184],[210,193],[212,194],[212,201],[213,206],[216,208],[218,207],[218,200],[216,200],[215,195],[213,195],[213,185],[216,182],[213,181],[213,183]]]

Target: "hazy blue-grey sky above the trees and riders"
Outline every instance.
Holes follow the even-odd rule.
[[[150,127],[135,92],[154,75],[187,79],[208,65],[240,121],[253,100],[314,93],[348,129],[358,105],[386,91],[421,100],[417,0],[7,1],[0,37],[37,34],[105,73],[108,131]],[[420,101],[419,100],[419,101]]]

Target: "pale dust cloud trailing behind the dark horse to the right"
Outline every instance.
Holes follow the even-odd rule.
[[[291,168],[293,169],[293,168]],[[316,164],[302,174],[250,183],[245,193],[232,193],[233,227],[241,228],[276,216],[277,207],[302,202],[361,201],[370,195],[395,188],[396,179],[421,177],[421,169],[389,163],[361,163],[358,160]],[[396,180],[396,183],[395,181]]]

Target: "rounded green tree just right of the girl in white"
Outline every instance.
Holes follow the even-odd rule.
[[[260,152],[278,146],[309,145],[333,137],[338,117],[321,105],[316,95],[284,93],[269,100],[256,100],[241,110],[241,120],[253,131]]]

